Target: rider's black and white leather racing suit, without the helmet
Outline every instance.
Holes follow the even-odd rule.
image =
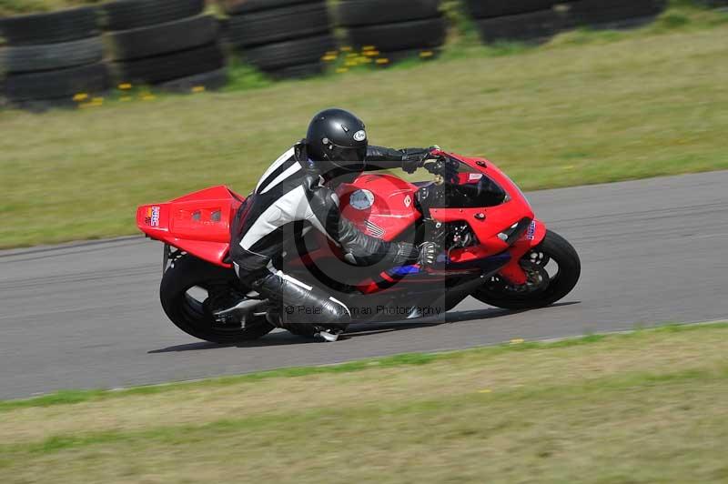
[[[407,151],[369,146],[365,169],[402,167]],[[230,249],[241,281],[270,300],[270,322],[309,336],[329,328],[346,328],[351,314],[329,291],[280,270],[279,261],[290,238],[287,234],[292,233],[287,232],[291,224],[303,222],[315,227],[340,247],[350,264],[357,266],[408,265],[420,255],[418,247],[369,237],[342,217],[339,198],[323,175],[308,159],[304,142],[288,149],[268,167],[238,210]],[[297,315],[284,308],[316,310]]]

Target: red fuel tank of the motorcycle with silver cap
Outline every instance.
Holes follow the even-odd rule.
[[[397,176],[362,175],[337,190],[341,213],[362,232],[394,240],[422,215],[415,208],[418,187]]]

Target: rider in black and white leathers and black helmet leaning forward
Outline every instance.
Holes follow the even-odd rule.
[[[365,170],[400,167],[413,173],[430,149],[369,146],[364,123],[343,109],[314,116],[306,139],[278,157],[238,210],[232,227],[230,256],[238,277],[271,301],[268,321],[301,335],[335,341],[351,319],[349,308],[328,291],[311,287],[276,267],[285,250],[284,227],[308,222],[341,248],[350,264],[390,267],[431,264],[434,244],[420,247],[386,242],[359,231],[339,212],[340,183]],[[278,264],[279,265],[279,264]],[[288,308],[310,308],[298,316]]]

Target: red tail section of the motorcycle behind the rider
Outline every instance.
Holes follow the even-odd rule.
[[[177,247],[207,262],[225,262],[230,223],[245,200],[225,186],[200,190],[167,203],[136,209],[136,226],[148,237]]]

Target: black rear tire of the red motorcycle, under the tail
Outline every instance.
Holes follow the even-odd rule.
[[[192,287],[224,291],[237,285],[238,278],[232,269],[213,266],[197,257],[183,256],[162,277],[159,299],[167,318],[195,338],[220,344],[262,338],[273,329],[265,317],[253,318],[242,328],[216,328],[205,301],[188,294]]]

